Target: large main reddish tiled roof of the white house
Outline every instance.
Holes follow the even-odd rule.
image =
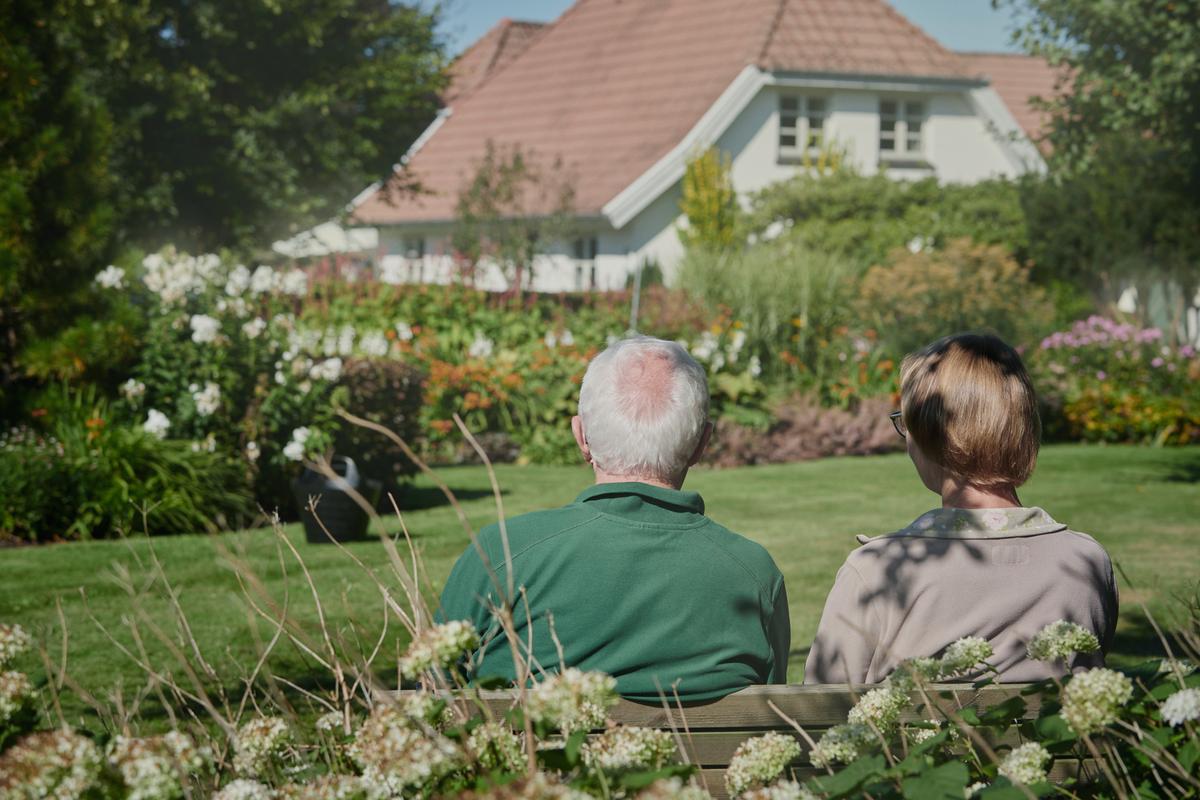
[[[496,29],[485,40],[492,36]],[[884,0],[577,0],[524,44],[503,70],[458,92],[451,114],[408,162],[406,178],[424,192],[378,191],[355,210],[356,221],[451,219],[488,140],[562,160],[576,210],[599,213],[678,145],[748,65],[971,74]],[[494,43],[475,49],[463,60],[486,60]]]

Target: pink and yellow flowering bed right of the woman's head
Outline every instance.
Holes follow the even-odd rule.
[[[1163,332],[1088,317],[1027,356],[1048,437],[1084,441],[1200,441],[1200,355]]]

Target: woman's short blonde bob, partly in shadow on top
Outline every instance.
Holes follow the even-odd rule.
[[[958,333],[900,367],[900,411],[920,451],[976,486],[1033,474],[1042,420],[1021,356],[996,336]]]

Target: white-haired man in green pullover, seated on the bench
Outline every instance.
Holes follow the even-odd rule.
[[[522,650],[532,633],[534,674],[602,670],[642,702],[785,682],[784,577],[680,488],[713,429],[701,366],[674,342],[619,341],[588,366],[571,427],[595,485],[565,507],[509,519],[506,549],[486,528],[446,581],[440,616],[480,634],[475,676],[515,676],[490,610],[505,604],[508,553],[508,604]]]

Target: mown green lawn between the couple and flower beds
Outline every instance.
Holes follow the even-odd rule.
[[[589,482],[583,468],[502,467],[497,473],[510,516],[569,503]],[[445,469],[442,475],[460,493],[474,525],[496,518],[481,468]],[[688,487],[703,494],[710,516],[766,546],[782,570],[792,612],[792,681],[800,680],[826,593],[846,553],[856,546],[853,535],[894,530],[936,505],[902,455],[697,470]],[[1034,480],[1021,494],[1026,504],[1040,505],[1074,529],[1096,536],[1124,575],[1120,581],[1122,613],[1115,661],[1128,663],[1156,651],[1140,604],[1163,615],[1172,597],[1194,591],[1200,581],[1200,450],[1046,447]],[[412,509],[406,522],[424,555],[431,596],[467,545],[451,510],[437,503],[439,497],[420,481],[402,500]],[[287,530],[322,590],[331,625],[346,637],[359,636],[366,642],[378,637],[383,604],[372,582],[336,548],[304,543],[296,525]],[[356,543],[350,551],[372,567],[382,567],[377,570],[380,575],[386,572],[386,557],[378,542]],[[228,552],[238,553],[262,576],[277,602],[287,603],[292,619],[316,630],[316,610],[304,576],[268,529],[215,537],[0,551],[0,621],[41,631],[56,646],[55,603],[61,603],[70,631],[71,674],[102,697],[120,687],[128,698],[144,684],[142,674],[91,618],[108,627],[118,642],[133,646],[125,621],[133,614],[133,603],[115,578],[124,570],[140,593],[139,602],[149,618],[167,620],[166,602],[146,577],[151,552],[179,593],[196,639],[221,668],[252,662],[257,652],[256,626]],[[270,633],[270,626],[258,622],[257,637],[268,639]],[[392,625],[384,640],[382,662],[391,664],[403,646],[403,636]],[[149,640],[146,646],[152,658],[164,658],[164,645]],[[34,674],[42,672],[32,658],[19,666]],[[272,667],[301,681],[317,681],[323,674],[290,646],[278,650]]]

